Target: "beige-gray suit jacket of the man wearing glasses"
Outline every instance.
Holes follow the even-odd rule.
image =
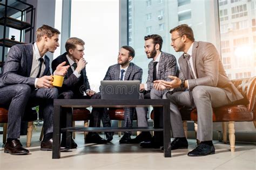
[[[243,98],[231,80],[228,79],[218,51],[213,44],[203,41],[194,41],[192,61],[197,79],[187,80],[186,59],[184,55],[181,55],[179,58],[179,78],[188,81],[189,90],[193,90],[196,86],[219,87],[225,90],[231,102]]]

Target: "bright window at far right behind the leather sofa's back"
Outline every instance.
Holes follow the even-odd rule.
[[[228,19],[220,22],[220,39],[221,57],[231,79],[255,76],[255,10],[247,10],[253,9],[254,4],[253,1],[237,0],[231,0],[231,4],[227,5],[219,4],[220,18],[225,16],[225,10],[230,11],[226,15]]]

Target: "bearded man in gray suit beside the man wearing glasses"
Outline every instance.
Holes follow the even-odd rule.
[[[163,39],[157,34],[152,34],[144,37],[145,53],[147,58],[153,59],[149,63],[149,71],[147,82],[140,84],[140,98],[161,99],[164,92],[153,89],[154,80],[171,81],[168,75],[178,75],[178,65],[174,55],[161,51]],[[138,117],[138,126],[146,127],[147,117],[145,108],[136,108]],[[154,127],[163,127],[163,111],[159,108],[154,108]],[[142,142],[143,141],[143,142]],[[163,146],[163,133],[155,132],[151,138],[150,132],[142,132],[136,138],[129,140],[129,143],[140,143],[142,147],[159,148]]]

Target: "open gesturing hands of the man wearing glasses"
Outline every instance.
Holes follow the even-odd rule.
[[[157,90],[173,89],[180,87],[181,80],[176,76],[168,76],[172,81],[156,80],[154,81],[154,88]]]

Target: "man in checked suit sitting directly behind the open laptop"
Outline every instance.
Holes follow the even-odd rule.
[[[142,82],[142,68],[136,66],[131,60],[134,58],[134,49],[130,46],[123,46],[118,53],[118,60],[116,65],[112,65],[107,69],[103,80],[139,80]],[[132,118],[134,115],[134,108],[124,108],[124,126],[132,127]],[[103,126],[110,127],[109,115],[104,114]],[[107,140],[112,139],[112,133],[106,133]],[[131,132],[124,132],[124,136],[119,140],[119,143],[127,143],[131,139]]]

